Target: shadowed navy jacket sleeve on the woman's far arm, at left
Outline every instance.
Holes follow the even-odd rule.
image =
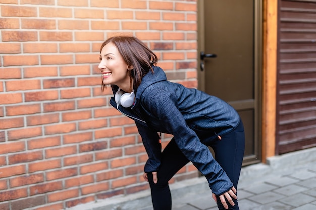
[[[156,131],[151,130],[147,126],[144,126],[136,121],[135,124],[148,154],[148,160],[145,164],[144,171],[146,173],[158,171],[162,150],[162,146],[159,141],[160,137]]]

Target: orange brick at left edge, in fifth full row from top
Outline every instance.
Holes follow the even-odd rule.
[[[17,66],[17,65],[38,65],[37,55],[23,55],[23,56],[3,56],[4,66]],[[20,81],[21,82],[21,81]]]

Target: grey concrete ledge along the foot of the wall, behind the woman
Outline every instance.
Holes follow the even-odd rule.
[[[254,164],[243,167],[240,174],[239,188],[253,184],[255,181],[269,179],[280,173],[291,173],[299,168],[316,162],[316,147],[291,152],[268,158],[267,164]],[[210,193],[205,177],[198,177],[170,185],[173,200],[190,197],[198,193]],[[77,205],[69,210],[141,210],[151,206],[150,190],[131,195],[120,195],[95,203]],[[147,208],[148,209],[148,208]]]

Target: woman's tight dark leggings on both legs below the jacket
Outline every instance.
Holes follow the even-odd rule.
[[[222,136],[221,140],[213,141],[209,146],[214,150],[215,160],[224,169],[237,189],[245,148],[242,122],[235,130]],[[153,183],[152,174],[148,173],[154,210],[171,210],[171,194],[168,181],[188,162],[189,160],[180,151],[174,139],[171,139],[162,153],[161,165],[157,173],[157,184]],[[209,197],[212,198],[212,195],[209,194]],[[229,209],[238,210],[237,200],[234,200],[234,203],[235,206],[228,203]],[[220,210],[225,209],[219,197],[217,197],[217,205]]]

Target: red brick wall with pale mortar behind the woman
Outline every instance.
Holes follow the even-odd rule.
[[[148,189],[134,122],[100,91],[99,47],[137,36],[169,80],[197,87],[196,0],[0,3],[0,209],[57,210]],[[172,181],[195,176],[188,165]]]

